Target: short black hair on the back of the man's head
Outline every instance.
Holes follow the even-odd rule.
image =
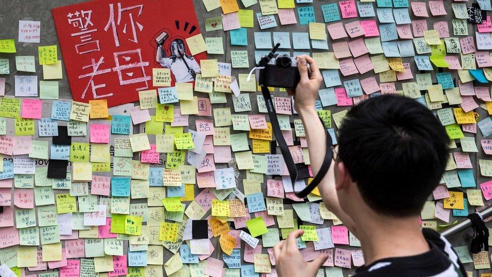
[[[352,107],[338,141],[339,158],[364,201],[391,216],[420,214],[449,157],[442,124],[404,96],[371,97]]]

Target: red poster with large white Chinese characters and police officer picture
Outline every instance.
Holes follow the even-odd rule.
[[[75,101],[139,100],[153,68],[193,82],[205,52],[191,56],[186,38],[200,33],[192,0],[96,0],[55,8],[53,19]]]

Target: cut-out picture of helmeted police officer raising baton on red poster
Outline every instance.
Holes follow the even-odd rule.
[[[166,51],[163,49],[164,42],[167,38],[168,34],[162,32],[155,39],[157,43],[156,62],[164,68],[171,69],[176,82],[186,83],[195,81],[197,73],[201,73],[200,66],[195,58],[186,53],[184,41],[180,38],[172,40],[169,45],[170,56],[167,57]]]

